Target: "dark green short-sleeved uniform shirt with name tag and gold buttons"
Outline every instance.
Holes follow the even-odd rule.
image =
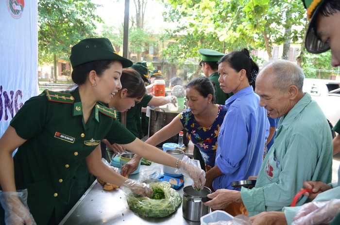
[[[55,209],[59,222],[65,215],[74,173],[101,140],[128,144],[136,137],[118,120],[99,112],[97,104],[84,122],[78,88],[74,103],[49,101],[46,94],[30,98],[10,125],[27,141],[14,156],[17,189],[28,189],[28,206],[38,225],[46,225]]]

